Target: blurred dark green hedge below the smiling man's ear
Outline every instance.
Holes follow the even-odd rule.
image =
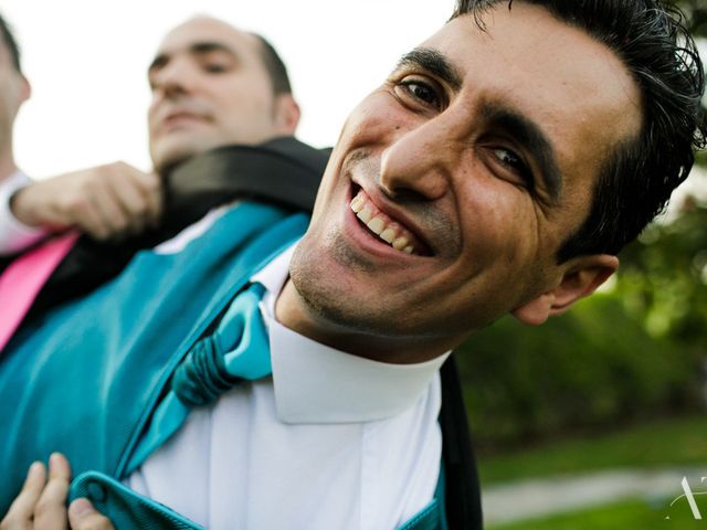
[[[615,296],[528,328],[510,318],[457,351],[477,444],[498,447],[667,411],[694,360],[650,337]]]

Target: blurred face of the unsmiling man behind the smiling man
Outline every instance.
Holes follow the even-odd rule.
[[[148,71],[157,169],[214,147],[277,136],[260,46],[255,36],[210,18],[192,19],[165,38]]]

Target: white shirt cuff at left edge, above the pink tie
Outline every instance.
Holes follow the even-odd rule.
[[[22,171],[0,181],[0,256],[7,256],[33,245],[46,231],[28,226],[15,219],[10,210],[10,199],[20,188],[32,181]]]

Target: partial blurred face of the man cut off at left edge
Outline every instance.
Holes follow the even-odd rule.
[[[11,152],[12,126],[20,105],[30,96],[30,85],[12,64],[12,57],[0,38],[0,152]]]

